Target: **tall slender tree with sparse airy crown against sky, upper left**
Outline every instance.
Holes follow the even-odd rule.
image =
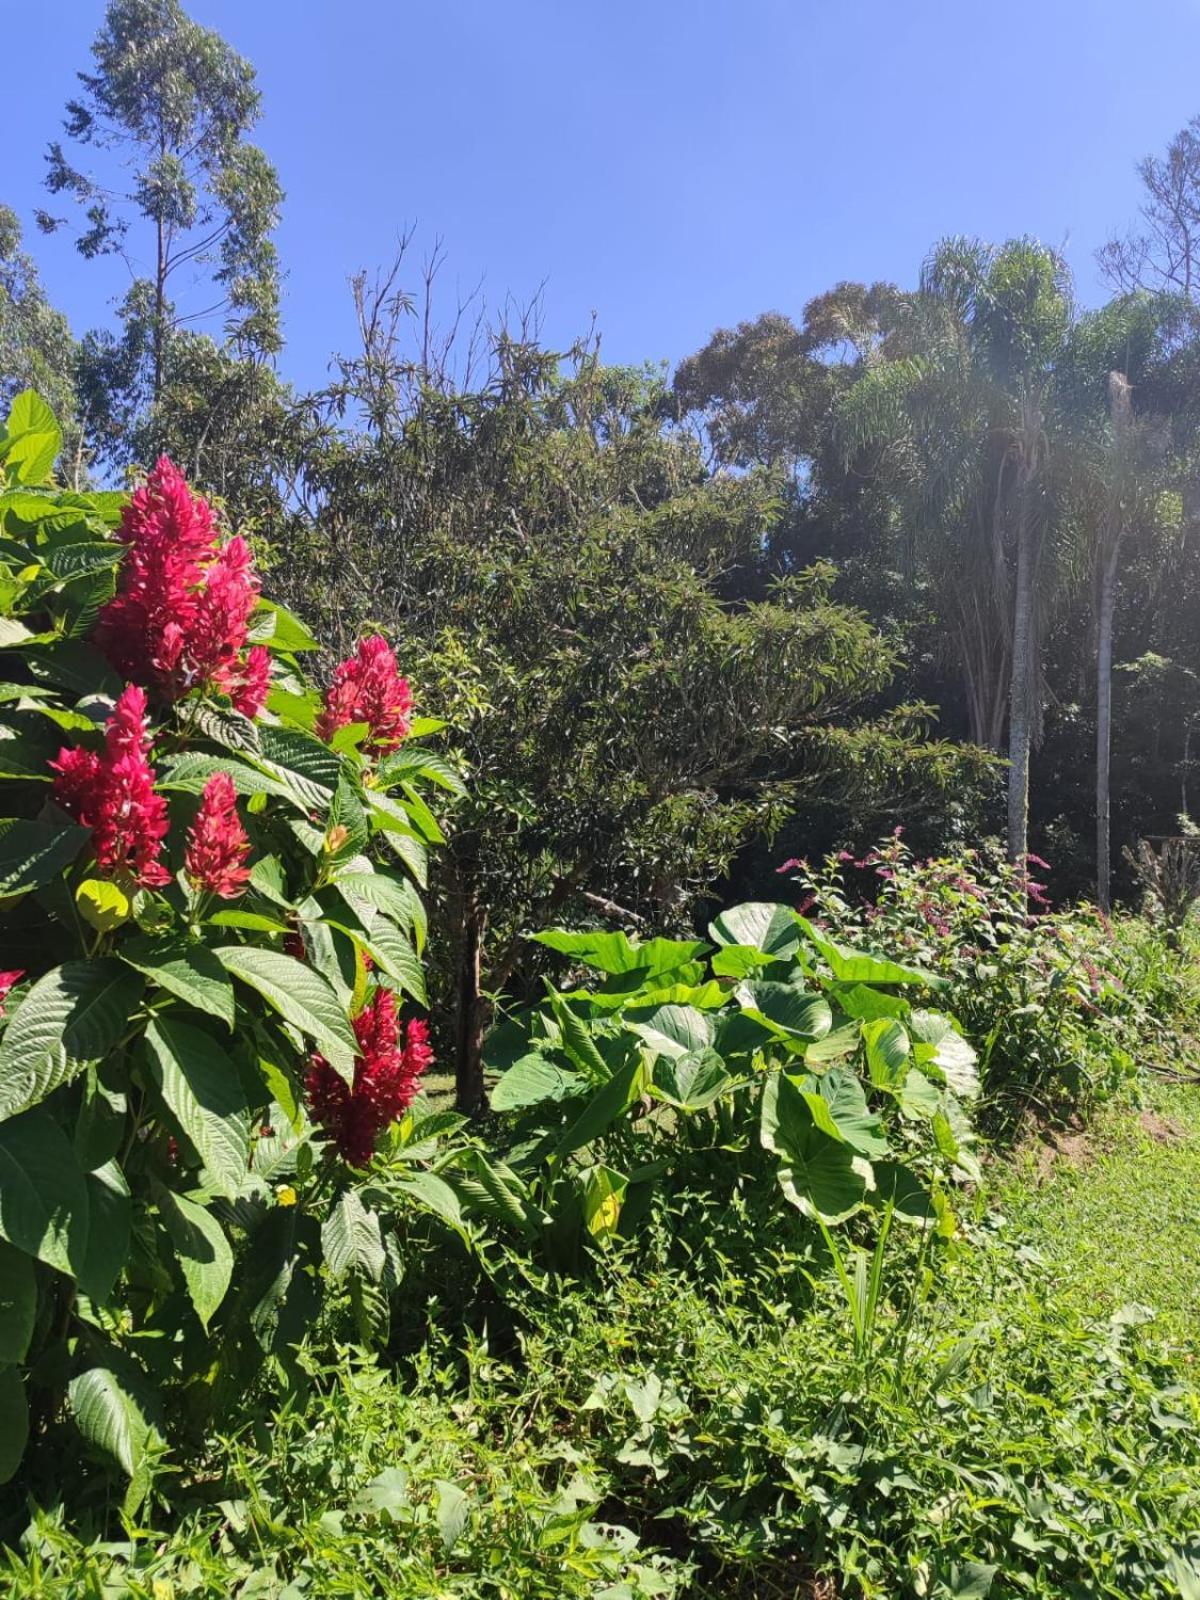
[[[253,67],[178,0],[110,0],[91,53],[94,70],[78,74],[64,128],[101,170],[75,165],[54,141],[46,187],[83,210],[80,254],[118,256],[133,278],[120,336],[91,334],[83,346],[85,387],[107,400],[101,443],[128,453],[133,426],[162,397],[181,330],[221,317],[238,357],[280,349],[270,234],[282,190],[246,141],[261,99]],[[38,222],[53,232],[66,219],[40,213]]]

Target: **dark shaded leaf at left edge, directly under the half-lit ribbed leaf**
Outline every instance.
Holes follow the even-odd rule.
[[[0,1234],[72,1277],[86,1259],[88,1189],[43,1106],[0,1123]]]

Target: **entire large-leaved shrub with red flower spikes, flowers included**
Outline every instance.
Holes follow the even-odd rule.
[[[58,445],[19,395],[0,434],[0,1477],[26,1374],[56,1373],[94,1451],[131,1442],[136,1501],[170,1435],[154,1379],[237,1390],[250,1354],[307,1334],[322,1283],[378,1333],[397,1205],[437,1200],[418,1168],[454,1120],[418,1099],[442,838],[421,787],[461,784],[414,742],[440,723],[384,638],[322,693],[315,640],[170,461],[128,496],[70,493]]]

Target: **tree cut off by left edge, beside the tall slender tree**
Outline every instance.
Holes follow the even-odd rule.
[[[37,267],[21,248],[16,213],[0,206],[0,410],[22,389],[35,389],[59,418],[64,469],[78,485],[83,472],[77,346],[62,312],[46,299]]]

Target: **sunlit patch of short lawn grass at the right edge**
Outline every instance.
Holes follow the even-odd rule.
[[[1200,1354],[1200,1085],[1152,1085],[1106,1107],[1062,1154],[1030,1144],[995,1202],[1045,1258],[1058,1296],[1109,1315],[1130,1302]]]

